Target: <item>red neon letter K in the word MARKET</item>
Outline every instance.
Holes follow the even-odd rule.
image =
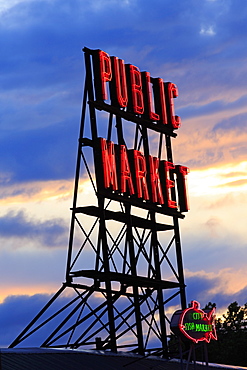
[[[151,196],[154,203],[164,204],[159,175],[159,159],[149,156]]]

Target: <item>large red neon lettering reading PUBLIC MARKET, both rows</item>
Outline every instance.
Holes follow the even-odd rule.
[[[178,96],[176,85],[153,78],[149,72],[141,72],[138,67],[110,57],[102,50],[91,52],[94,105],[98,102],[98,109],[176,137],[174,130],[181,125],[180,117],[174,112],[174,99]],[[101,189],[167,210],[189,210],[187,167],[127,149],[126,145],[102,137],[95,145],[100,153],[97,171],[103,175],[100,176],[103,180],[98,181]]]

